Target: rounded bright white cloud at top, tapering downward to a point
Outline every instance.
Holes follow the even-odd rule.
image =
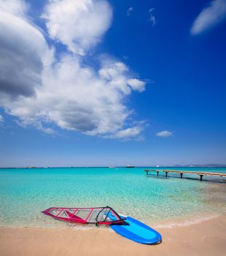
[[[104,0],[54,0],[43,18],[52,39],[84,56],[100,42],[112,22],[112,8]]]

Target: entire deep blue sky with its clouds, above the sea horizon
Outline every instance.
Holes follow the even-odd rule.
[[[226,164],[226,0],[0,0],[0,167]]]

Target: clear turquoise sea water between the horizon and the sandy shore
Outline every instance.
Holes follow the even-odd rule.
[[[51,206],[112,206],[152,226],[226,212],[226,183],[220,179],[146,176],[146,168],[0,169],[0,226],[87,228],[41,213]],[[172,169],[226,173],[226,168]]]

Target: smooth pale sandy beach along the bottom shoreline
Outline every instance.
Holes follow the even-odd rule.
[[[110,230],[0,228],[0,255],[226,255],[226,217],[160,228],[161,244],[147,246]]]

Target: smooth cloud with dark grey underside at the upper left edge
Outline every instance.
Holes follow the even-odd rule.
[[[20,16],[26,10],[24,2],[8,4],[12,13],[7,3],[0,4],[0,90],[9,97],[31,96],[41,84],[47,43],[42,33]]]

